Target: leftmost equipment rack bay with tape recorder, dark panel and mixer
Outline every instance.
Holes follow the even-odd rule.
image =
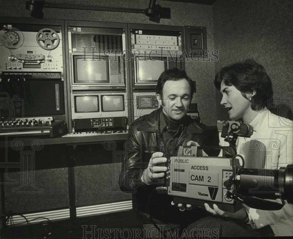
[[[13,131],[15,136],[63,134],[62,25],[4,21],[0,20],[0,93],[5,95],[0,96],[0,137]],[[56,134],[45,134],[49,129]]]

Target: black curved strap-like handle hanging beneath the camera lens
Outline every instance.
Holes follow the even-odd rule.
[[[266,210],[266,211],[275,211],[280,210],[285,205],[285,201],[281,199],[282,203],[272,202],[258,197],[244,197],[243,195],[237,192],[227,191],[227,196],[240,201],[241,203],[255,209]]]

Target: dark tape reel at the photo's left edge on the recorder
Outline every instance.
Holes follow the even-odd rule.
[[[17,49],[24,42],[23,33],[15,27],[3,28],[0,31],[0,42],[6,48]]]

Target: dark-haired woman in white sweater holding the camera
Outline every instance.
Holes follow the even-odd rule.
[[[254,129],[251,138],[239,137],[236,142],[245,168],[278,169],[293,163],[293,122],[268,110],[273,91],[263,66],[252,59],[231,64],[219,71],[214,85],[222,93],[221,105],[230,119],[241,119]],[[220,145],[229,144],[221,138]],[[191,224],[190,236],[198,235],[195,228],[217,228],[219,236],[293,235],[293,206],[288,203],[278,211],[252,209],[244,204],[236,213],[222,211],[216,204],[213,208],[205,204],[205,208],[217,217]]]

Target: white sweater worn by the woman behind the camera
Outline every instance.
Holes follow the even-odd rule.
[[[264,108],[250,123],[251,138],[239,137],[237,153],[243,156],[245,168],[278,169],[293,164],[293,122]],[[220,146],[229,146],[220,137]],[[240,160],[241,162],[241,160]],[[257,195],[256,195],[257,196]],[[280,199],[276,200],[281,202]],[[293,235],[293,205],[286,202],[277,211],[264,211],[244,205],[253,228],[270,225],[276,236]]]

